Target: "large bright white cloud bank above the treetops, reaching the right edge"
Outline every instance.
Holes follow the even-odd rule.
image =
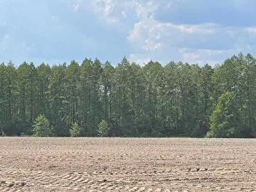
[[[157,1],[135,2],[139,20],[127,36],[134,49],[130,57],[134,61],[174,59],[214,65],[232,54],[256,48],[255,45],[248,45],[256,40],[256,28],[221,26],[214,23],[160,22],[154,18]],[[251,42],[248,35],[253,36]]]

